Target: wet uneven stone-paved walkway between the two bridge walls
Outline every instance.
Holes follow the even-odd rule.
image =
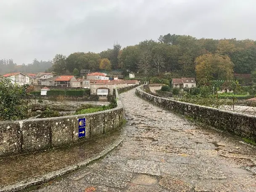
[[[256,149],[121,94],[127,137],[102,160],[36,192],[256,192]]]

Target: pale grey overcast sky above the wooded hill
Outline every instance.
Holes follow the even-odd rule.
[[[0,0],[0,59],[17,64],[168,33],[256,40],[256,0]]]

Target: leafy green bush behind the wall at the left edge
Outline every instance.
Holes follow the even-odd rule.
[[[27,117],[24,102],[27,86],[13,84],[11,79],[0,77],[0,121],[20,120]]]

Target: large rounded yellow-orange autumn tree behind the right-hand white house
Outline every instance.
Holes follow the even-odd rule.
[[[197,80],[231,80],[234,64],[227,55],[205,54],[195,59]]]

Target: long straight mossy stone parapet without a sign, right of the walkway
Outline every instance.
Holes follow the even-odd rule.
[[[207,125],[256,141],[256,116],[157,97],[144,92],[141,87],[136,88],[136,94],[139,97],[166,110],[195,118]]]

